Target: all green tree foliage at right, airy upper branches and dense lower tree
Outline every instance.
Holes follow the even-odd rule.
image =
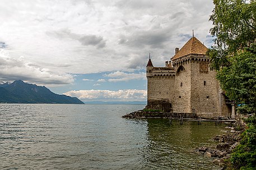
[[[208,50],[222,90],[240,105],[240,113],[256,113],[256,1],[214,0],[210,16],[215,46]]]

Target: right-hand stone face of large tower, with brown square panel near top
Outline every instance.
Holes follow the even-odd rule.
[[[220,109],[220,85],[216,71],[210,69],[209,59],[197,58],[192,62],[191,75],[191,109],[195,113],[211,113],[218,116]]]

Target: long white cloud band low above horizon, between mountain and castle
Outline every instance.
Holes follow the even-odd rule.
[[[147,90],[79,90],[68,91],[64,93],[68,96],[77,97],[80,100],[116,100],[116,101],[131,101],[131,100],[146,100]]]

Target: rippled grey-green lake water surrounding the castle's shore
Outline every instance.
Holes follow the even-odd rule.
[[[220,169],[193,149],[223,125],[122,118],[142,108],[0,104],[0,169]]]

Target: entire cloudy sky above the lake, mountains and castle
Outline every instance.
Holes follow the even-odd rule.
[[[146,101],[146,65],[194,36],[213,45],[205,0],[1,0],[0,81],[82,101]]]

